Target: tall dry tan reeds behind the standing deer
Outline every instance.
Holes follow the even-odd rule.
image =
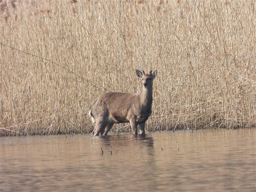
[[[255,126],[255,1],[0,0],[0,135],[89,133],[157,69],[148,131]],[[113,132],[129,132],[117,125]]]

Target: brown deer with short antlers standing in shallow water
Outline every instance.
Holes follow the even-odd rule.
[[[153,80],[157,70],[150,70],[149,74],[145,74],[144,70],[135,72],[142,80],[142,92],[107,92],[92,102],[89,108],[89,116],[95,123],[92,135],[107,135],[115,123],[130,123],[132,134],[138,134],[138,127],[140,134],[145,136],[145,123],[151,116]]]

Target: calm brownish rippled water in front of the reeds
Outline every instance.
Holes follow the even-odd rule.
[[[255,129],[4,137],[0,149],[1,192],[256,191]]]

